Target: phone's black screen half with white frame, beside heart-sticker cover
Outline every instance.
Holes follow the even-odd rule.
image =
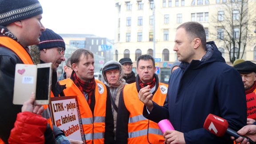
[[[35,104],[49,104],[52,88],[52,63],[37,64]]]

